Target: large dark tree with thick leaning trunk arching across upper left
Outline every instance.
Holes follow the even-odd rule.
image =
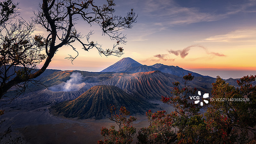
[[[3,59],[5,66],[9,67],[9,69],[2,68],[2,70],[4,73],[8,73],[8,70],[13,69],[11,65],[14,67],[19,66],[20,69],[18,71],[12,70],[13,77],[2,81],[0,86],[0,99],[6,92],[10,91],[11,88],[18,84],[26,83],[41,75],[50,64],[58,49],[64,45],[68,45],[72,50],[76,51],[76,48],[72,44],[77,41],[85,51],[96,48],[100,55],[121,56],[123,54],[123,48],[118,47],[118,45],[126,43],[126,35],[119,33],[119,31],[132,28],[132,24],[136,22],[137,19],[137,15],[133,12],[133,9],[131,9],[131,12],[127,12],[127,15],[124,17],[114,15],[115,9],[113,6],[115,6],[115,4],[113,0],[107,0],[106,4],[102,6],[95,5],[93,0],[43,0],[43,3],[39,4],[39,6],[40,9],[37,13],[35,12],[36,17],[33,20],[36,24],[42,25],[49,33],[45,39],[42,36],[32,37],[31,33],[34,30],[33,23],[25,23],[21,20],[18,21],[15,28],[21,23],[22,26],[18,27],[18,31],[21,32],[23,38],[17,41],[13,40],[12,36],[7,36],[6,39],[6,35],[16,35],[16,32],[12,32],[15,31],[15,28],[12,27],[10,29],[5,28],[5,31],[7,31],[5,35],[1,34],[1,50],[3,52],[9,52],[7,56],[12,57],[12,63],[10,63],[8,60],[5,60],[5,56],[2,55],[1,51],[1,60]],[[89,30],[88,35],[83,36],[75,28],[77,24],[76,20],[78,19],[83,19],[85,24],[90,26],[93,23],[98,24],[102,29],[102,35],[107,35],[111,40],[116,40],[116,44],[114,44],[112,48],[104,50],[102,45],[90,41],[90,36],[93,34],[93,31]],[[22,31],[23,28],[30,28],[30,31]],[[4,47],[2,44],[4,44],[5,41],[8,41],[10,44]],[[19,45],[15,45],[17,42]],[[45,49],[46,55],[40,53],[43,48]],[[15,49],[15,51],[12,49]],[[23,51],[20,50],[20,54],[14,55],[14,52],[18,49],[22,49]],[[17,56],[19,57],[18,59],[16,58]],[[72,62],[77,56],[78,52],[75,57],[69,55],[67,59],[70,59]],[[44,58],[46,58],[46,60],[43,67],[36,69],[36,64],[40,63]],[[27,60],[31,63],[26,63]],[[28,66],[26,64],[30,65]],[[1,63],[1,65],[3,65],[3,63]],[[8,74],[5,76],[8,77]]]

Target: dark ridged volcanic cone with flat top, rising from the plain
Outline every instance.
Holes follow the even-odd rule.
[[[65,117],[105,118],[108,106],[115,105],[118,109],[124,106],[131,114],[145,113],[152,105],[134,98],[120,88],[111,85],[98,85],[84,92],[77,99],[65,101],[51,107],[54,114]]]

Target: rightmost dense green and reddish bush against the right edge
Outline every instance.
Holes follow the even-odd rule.
[[[256,76],[237,80],[239,88],[225,83],[219,76],[212,84],[212,98],[204,113],[207,140],[216,143],[245,143],[256,132]],[[216,101],[216,99],[223,101]],[[247,101],[245,101],[247,100]]]

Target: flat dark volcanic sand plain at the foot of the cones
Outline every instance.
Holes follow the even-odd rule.
[[[158,103],[156,110],[172,111],[172,108],[161,101],[151,101]],[[53,116],[49,113],[47,107],[40,108],[4,108],[4,115],[1,120],[5,119],[0,131],[12,126],[13,134],[17,134],[28,140],[31,144],[80,144],[80,143],[97,143],[103,139],[100,135],[100,128],[111,125],[117,125],[109,119],[77,119]],[[45,110],[44,110],[45,109]],[[153,109],[152,109],[153,110]],[[153,110],[154,111],[154,110]],[[134,115],[137,120],[134,126],[137,132],[141,127],[148,126],[148,120],[145,115]],[[136,136],[133,143],[136,143]]]

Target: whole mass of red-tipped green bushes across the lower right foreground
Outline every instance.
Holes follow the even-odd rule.
[[[173,112],[168,113],[164,110],[155,113],[151,110],[146,112],[149,126],[139,130],[138,143],[255,142],[256,86],[253,86],[252,82],[256,80],[256,75],[244,76],[237,80],[240,88],[235,88],[217,76],[216,82],[212,84],[212,101],[208,99],[210,102],[204,107],[189,100],[189,95],[194,95],[196,92],[196,88],[192,89],[188,86],[194,76],[189,73],[183,76],[183,79],[183,88],[180,87],[180,82],[174,82],[173,96],[162,97],[164,103],[174,108]],[[199,112],[200,108],[205,109],[203,114]],[[118,140],[125,139],[122,136],[126,134],[118,135],[114,128],[111,130],[116,132],[115,136],[112,135],[105,139],[105,142],[102,140],[100,142],[128,143],[127,141],[115,141],[116,136]],[[101,134],[106,138],[106,133],[102,132],[107,132],[109,136],[112,131],[102,128]]]

